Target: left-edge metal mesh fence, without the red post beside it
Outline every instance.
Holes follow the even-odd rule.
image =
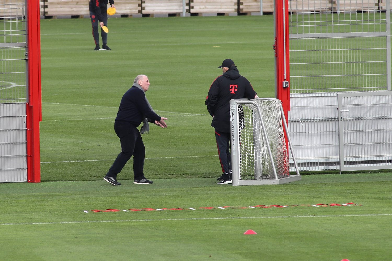
[[[27,181],[25,0],[0,0],[0,182]]]

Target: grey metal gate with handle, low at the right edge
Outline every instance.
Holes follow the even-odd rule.
[[[339,94],[339,108],[341,169],[391,168],[392,92]]]

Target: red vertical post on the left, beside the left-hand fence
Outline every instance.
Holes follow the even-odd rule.
[[[40,2],[27,0],[27,181],[41,182],[40,121],[41,110],[41,43]]]

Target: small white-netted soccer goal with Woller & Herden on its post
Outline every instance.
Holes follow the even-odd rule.
[[[281,101],[274,98],[231,100],[230,115],[234,186],[301,180]],[[290,175],[288,149],[296,175]]]

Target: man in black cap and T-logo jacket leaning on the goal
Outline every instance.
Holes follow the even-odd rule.
[[[215,139],[223,174],[218,184],[232,184],[230,157],[230,100],[257,98],[250,82],[240,75],[234,61],[225,59],[223,74],[217,77],[208,91],[205,105],[212,116],[211,126],[215,128]]]

